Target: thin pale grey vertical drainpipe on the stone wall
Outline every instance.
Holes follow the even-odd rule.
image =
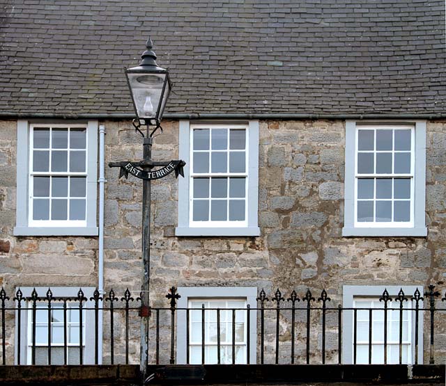
[[[98,291],[104,298],[104,191],[105,191],[105,127],[99,126],[99,248],[98,248]],[[102,330],[103,330],[103,309],[102,305],[98,314],[98,362],[102,364]]]

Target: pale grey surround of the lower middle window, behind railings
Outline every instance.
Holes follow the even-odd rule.
[[[245,300],[253,308],[249,311],[249,362],[256,363],[257,353],[257,287],[179,287],[180,298],[177,303],[176,325],[176,363],[186,364],[187,359],[187,328],[186,312],[189,301],[194,299],[206,300]]]

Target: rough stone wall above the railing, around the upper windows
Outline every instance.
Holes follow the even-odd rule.
[[[105,124],[106,165],[138,160],[141,137],[130,122]],[[178,122],[164,122],[155,160],[178,158]],[[152,184],[151,300],[167,306],[172,285],[279,287],[329,292],[343,284],[436,284],[446,273],[446,122],[427,124],[426,223],[417,237],[341,237],[344,211],[344,122],[261,121],[259,237],[174,235],[178,184]],[[97,285],[96,237],[14,237],[16,122],[0,123],[0,285]],[[105,287],[134,295],[141,278],[141,181],[106,168]],[[181,177],[180,177],[181,178]],[[442,293],[443,296],[443,293]],[[442,332],[443,331],[439,331]],[[442,340],[443,339],[443,340]],[[439,341],[445,341],[440,335]],[[444,345],[443,345],[444,346]],[[444,349],[444,347],[443,347]]]

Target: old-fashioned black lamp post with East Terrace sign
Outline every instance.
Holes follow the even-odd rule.
[[[183,175],[185,162],[181,160],[153,161],[153,136],[162,127],[162,113],[169,97],[171,83],[169,72],[158,67],[155,52],[152,51],[152,40],[148,38],[146,51],[141,55],[137,67],[125,70],[128,87],[132,95],[134,112],[137,115],[132,121],[134,129],[143,137],[143,160],[110,162],[111,168],[120,168],[119,177],[128,178],[131,174],[143,180],[142,184],[142,261],[143,277],[141,284],[141,372],[146,375],[148,363],[148,317],[150,316],[150,238],[151,238],[151,180],[160,179],[175,172],[176,177]],[[144,129],[145,127],[145,129]],[[157,170],[153,168],[160,167]]]

